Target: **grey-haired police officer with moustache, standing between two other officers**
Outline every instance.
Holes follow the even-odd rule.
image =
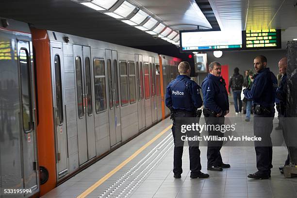
[[[202,82],[204,100],[203,114],[207,125],[224,125],[225,115],[229,113],[229,100],[226,83],[221,75],[222,66],[219,62],[212,62],[208,66],[209,74]],[[210,127],[209,136],[223,137],[224,133]],[[230,168],[230,164],[222,161],[220,150],[223,141],[208,141],[207,170],[222,171]]]

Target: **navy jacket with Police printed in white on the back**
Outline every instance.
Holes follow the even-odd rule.
[[[165,104],[175,110],[195,111],[202,106],[200,87],[187,75],[178,75],[166,88]]]

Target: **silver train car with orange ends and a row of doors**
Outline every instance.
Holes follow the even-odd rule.
[[[164,88],[180,59],[53,31],[31,32],[43,195],[165,118]],[[169,76],[169,71],[175,72]]]

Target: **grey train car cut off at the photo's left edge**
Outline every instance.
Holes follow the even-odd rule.
[[[0,197],[39,192],[32,36],[0,18]]]

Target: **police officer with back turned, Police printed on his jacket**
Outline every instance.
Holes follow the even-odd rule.
[[[171,113],[177,117],[195,117],[197,108],[202,106],[202,99],[199,93],[199,86],[190,79],[190,65],[188,62],[181,62],[178,66],[180,75],[171,81],[167,86],[165,104],[171,110]],[[177,142],[176,133],[180,131],[175,130],[175,118],[173,118],[172,134],[174,138],[174,161],[173,173],[174,178],[181,178],[181,157],[183,146]],[[208,178],[208,174],[202,173],[200,163],[200,150],[199,146],[191,146],[189,143],[190,155],[190,170],[191,178]],[[182,142],[183,145],[183,142]]]

